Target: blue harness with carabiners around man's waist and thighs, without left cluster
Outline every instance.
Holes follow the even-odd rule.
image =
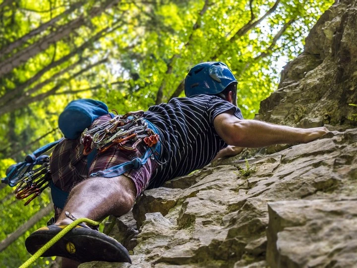
[[[131,169],[138,169],[144,165],[149,158],[156,159],[159,164],[161,155],[161,142],[159,132],[148,120],[143,118],[143,111],[130,112],[123,116],[116,116],[102,125],[91,130],[84,130],[81,135],[81,142],[84,145],[83,154],[87,154],[87,165],[96,154],[106,151],[111,146],[117,146],[121,150],[133,151],[140,143],[147,149],[141,157],[133,157],[131,161],[121,163],[90,174],[90,177],[113,178],[124,174]],[[132,143],[130,145],[130,143]],[[54,204],[63,208],[69,193],[56,187],[53,182],[50,184],[51,196]]]

